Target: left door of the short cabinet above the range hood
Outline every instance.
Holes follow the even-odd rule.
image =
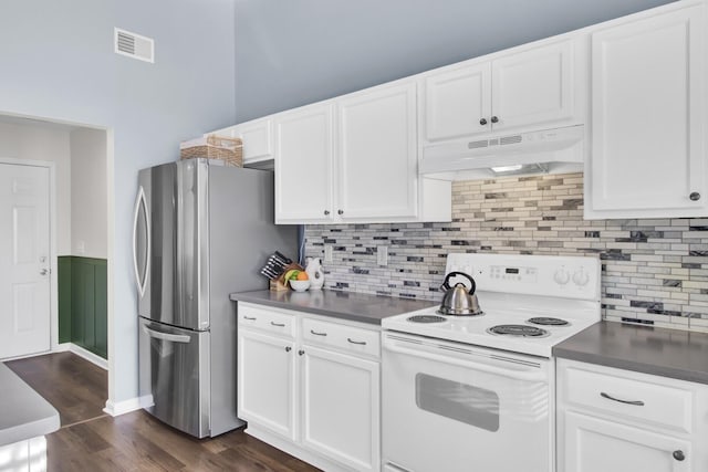
[[[489,133],[491,67],[488,62],[425,80],[424,139],[434,143]]]

